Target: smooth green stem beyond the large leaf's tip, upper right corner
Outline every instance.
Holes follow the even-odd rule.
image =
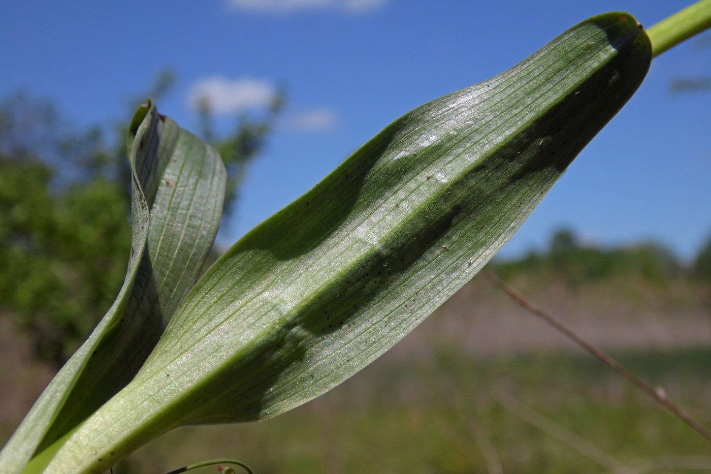
[[[663,19],[647,30],[652,42],[652,57],[711,28],[711,0],[697,1],[682,11]]]

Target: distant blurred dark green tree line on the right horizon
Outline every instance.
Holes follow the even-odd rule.
[[[711,283],[711,236],[690,264],[684,264],[668,247],[645,242],[629,246],[584,245],[570,229],[553,233],[547,248],[530,251],[522,258],[494,260],[491,264],[501,278],[520,273],[560,277],[571,285],[631,277],[663,283],[690,278]]]

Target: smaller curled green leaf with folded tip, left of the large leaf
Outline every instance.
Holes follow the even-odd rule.
[[[133,238],[116,302],[50,382],[0,455],[21,472],[136,374],[198,279],[217,232],[225,170],[214,149],[152,104],[131,127]],[[149,211],[150,209],[150,211]]]

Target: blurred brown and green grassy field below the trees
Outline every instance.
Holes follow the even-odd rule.
[[[709,287],[510,283],[711,424]],[[2,441],[50,378],[7,319]],[[261,423],[173,431],[114,472],[218,457],[260,474],[711,472],[708,441],[481,276],[320,399]]]

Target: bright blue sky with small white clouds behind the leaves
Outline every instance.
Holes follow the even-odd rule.
[[[196,95],[213,97],[228,127],[284,85],[287,110],[220,231],[226,245],[417,105],[500,73],[589,16],[629,11],[651,26],[690,3],[3,0],[0,98],[24,90],[77,125],[101,124],[171,68],[178,82],[159,110],[196,130]],[[711,76],[710,40],[653,61],[503,255],[570,226],[589,243],[656,240],[693,256],[711,234],[711,90],[669,85]]]

